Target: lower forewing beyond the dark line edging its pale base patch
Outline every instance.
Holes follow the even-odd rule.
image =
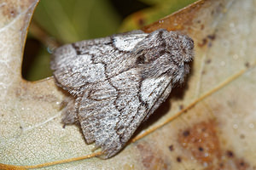
[[[90,91],[84,91],[80,100],[79,122],[86,142],[100,146],[105,158],[122,149],[134,132],[124,132],[124,129],[132,126],[134,117],[138,117],[141,77],[136,71],[131,69],[95,84]]]

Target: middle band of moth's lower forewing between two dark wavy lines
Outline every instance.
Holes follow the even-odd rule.
[[[138,68],[131,69],[111,79],[119,95],[114,105],[119,111],[119,122],[115,130],[119,134],[119,142],[124,145],[137,128],[137,125],[146,114],[138,114],[142,101],[140,100],[140,83],[142,76]]]

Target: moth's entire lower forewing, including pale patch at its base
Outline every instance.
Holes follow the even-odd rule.
[[[93,94],[85,91],[80,101],[79,121],[84,137],[88,143],[102,147],[105,152],[102,158],[119,152],[154,106],[160,105],[159,99],[166,99],[172,88],[171,77],[142,81],[138,71],[130,69],[97,84],[90,88]]]

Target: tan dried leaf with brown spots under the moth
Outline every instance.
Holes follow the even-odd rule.
[[[89,155],[93,148],[84,143],[78,127],[62,128],[59,108],[64,95],[52,78],[25,82],[20,77],[26,27],[36,3],[0,1],[3,164],[65,161]],[[200,1],[145,27],[145,31],[179,30],[193,37],[195,60],[188,82],[172,92],[135,139],[143,138],[119,155],[44,169],[256,168],[255,4],[255,0]],[[3,164],[0,168],[14,168]]]

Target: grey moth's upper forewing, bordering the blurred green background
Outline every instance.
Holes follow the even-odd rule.
[[[103,64],[107,77],[113,77],[127,70],[136,60],[131,58],[130,50],[148,35],[142,31],[135,32],[137,33],[75,42],[57,48],[54,53],[55,58],[51,62],[56,81],[62,88],[77,93],[78,89],[87,82],[87,78],[93,75],[92,71],[95,70],[91,69],[89,72],[86,69],[92,64]],[[102,75],[102,71],[96,73]],[[98,78],[105,77],[96,77],[96,81],[99,80]]]

